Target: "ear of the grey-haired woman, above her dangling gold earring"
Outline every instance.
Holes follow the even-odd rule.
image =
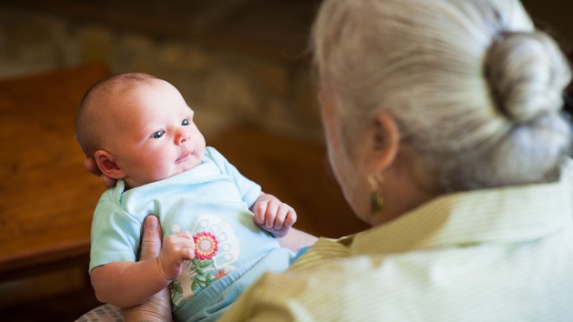
[[[400,146],[400,132],[394,117],[387,113],[378,114],[374,120],[373,136],[372,170],[379,173],[394,163]]]

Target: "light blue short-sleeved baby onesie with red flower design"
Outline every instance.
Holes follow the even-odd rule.
[[[196,258],[170,286],[174,317],[215,320],[258,277],[285,270],[293,257],[253,222],[249,207],[260,192],[213,147],[201,165],[165,180],[127,191],[118,180],[95,207],[90,272],[136,261],[143,221],[156,214],[164,238],[186,230],[196,242]]]

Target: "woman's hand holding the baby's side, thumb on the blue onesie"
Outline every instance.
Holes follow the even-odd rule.
[[[143,237],[141,239],[140,260],[159,256],[162,236],[159,219],[153,215],[147,216],[143,227]],[[127,322],[165,322],[173,320],[171,315],[171,297],[167,287],[159,293],[156,293],[153,297],[150,297],[146,302],[136,307],[127,307],[122,310]]]

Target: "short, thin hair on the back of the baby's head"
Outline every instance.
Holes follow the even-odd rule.
[[[108,121],[105,112],[112,107],[108,98],[156,79],[156,76],[145,73],[109,75],[95,82],[85,92],[75,115],[75,139],[85,156],[94,156],[95,151],[102,148],[102,135],[98,129],[102,122]]]

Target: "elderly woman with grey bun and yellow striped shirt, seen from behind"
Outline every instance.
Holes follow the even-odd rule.
[[[223,320],[573,319],[570,72],[518,0],[325,0],[313,45],[329,161],[373,227]]]

